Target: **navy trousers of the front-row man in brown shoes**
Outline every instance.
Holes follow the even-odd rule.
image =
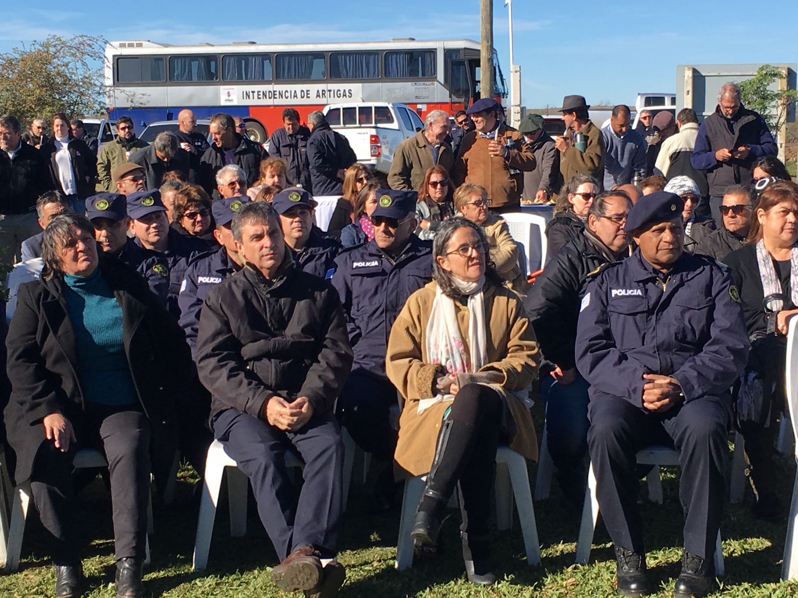
[[[334,415],[313,415],[299,431],[286,432],[231,408],[215,416],[213,429],[249,478],[260,520],[280,561],[306,545],[313,545],[322,557],[334,557],[344,462],[341,429]],[[286,468],[286,450],[298,453],[305,462],[305,483],[298,499]]]

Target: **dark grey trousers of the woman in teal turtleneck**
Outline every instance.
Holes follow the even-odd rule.
[[[130,407],[89,404],[82,421],[72,421],[77,443],[61,452],[45,440],[36,455],[30,487],[41,523],[54,537],[56,564],[77,560],[72,460],[78,449],[101,450],[108,461],[117,561],[144,560],[150,476],[150,426]],[[42,435],[44,431],[42,430]]]

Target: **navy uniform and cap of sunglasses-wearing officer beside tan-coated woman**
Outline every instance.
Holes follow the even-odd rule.
[[[415,210],[415,191],[377,191],[372,214],[406,218]],[[338,417],[364,450],[380,459],[393,458],[397,433],[389,411],[397,391],[385,376],[385,351],[393,321],[407,298],[433,277],[432,246],[411,234],[397,256],[386,254],[375,240],[342,250],[332,275],[346,314],[354,366],[341,397]]]

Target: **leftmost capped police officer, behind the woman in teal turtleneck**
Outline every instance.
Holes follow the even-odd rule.
[[[94,225],[97,246],[106,255],[140,273],[156,297],[166,305],[169,268],[166,258],[128,238],[127,199],[119,193],[98,193],[86,199],[86,218]]]

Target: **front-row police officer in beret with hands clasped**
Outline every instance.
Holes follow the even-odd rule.
[[[679,453],[684,552],[674,596],[705,596],[721,525],[729,386],[749,340],[737,290],[712,258],[684,252],[683,201],[657,191],[630,210],[638,249],[604,266],[581,303],[576,366],[591,384],[588,450],[602,516],[615,545],[618,592],[650,591],[635,501],[635,454]]]

